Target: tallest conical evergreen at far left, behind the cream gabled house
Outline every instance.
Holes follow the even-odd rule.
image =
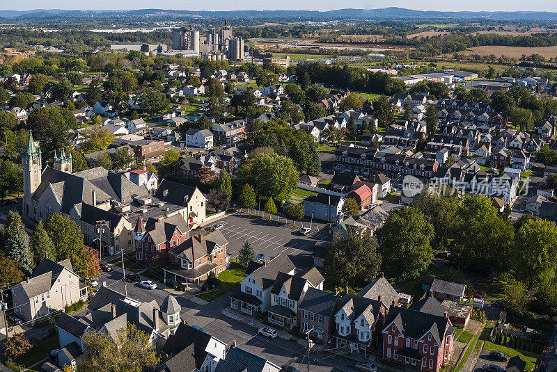
[[[7,226],[6,252],[8,257],[22,266],[25,275],[31,275],[32,262],[29,241],[19,213],[10,211]]]

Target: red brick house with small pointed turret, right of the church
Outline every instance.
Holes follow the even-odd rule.
[[[149,218],[145,225],[139,216],[134,232],[136,260],[150,263],[168,261],[168,252],[189,238],[189,227],[181,214],[164,220]]]

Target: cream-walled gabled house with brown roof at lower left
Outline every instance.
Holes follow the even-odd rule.
[[[31,277],[15,284],[11,291],[15,314],[32,322],[88,296],[86,284],[79,281],[69,259],[43,259]]]

